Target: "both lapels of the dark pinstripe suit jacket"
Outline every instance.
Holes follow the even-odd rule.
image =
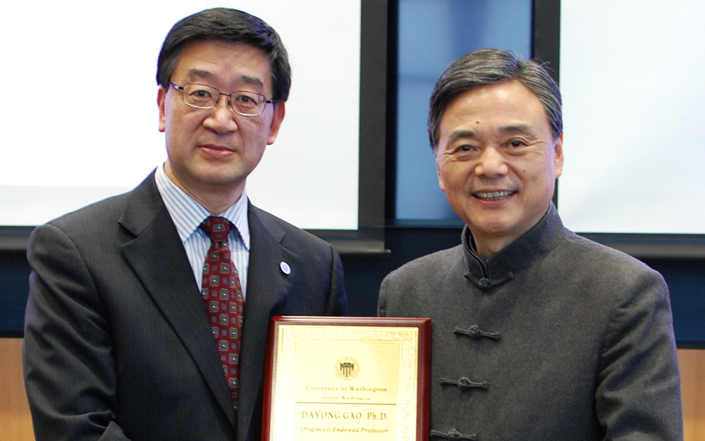
[[[295,266],[300,261],[298,255],[281,245],[285,233],[271,217],[252,204],[248,204],[247,210],[251,250],[242,342],[246,364],[240,367],[237,423],[216,346],[203,344],[212,334],[200,288],[176,226],[161,200],[154,173],[130,193],[119,220],[131,236],[122,246],[125,258],[183,341],[223,412],[237,428],[238,439],[250,439],[250,431],[260,424],[253,418],[259,415],[257,407],[262,406],[259,397],[263,393],[262,367],[269,317],[277,305],[286,301],[292,289],[290,279],[279,274],[280,262]]]

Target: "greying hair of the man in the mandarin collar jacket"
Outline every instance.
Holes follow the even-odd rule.
[[[441,117],[455,97],[474,87],[510,80],[519,81],[539,98],[556,140],[563,133],[560,90],[544,64],[500,49],[478,49],[453,61],[436,82],[429,102],[431,149],[435,152],[438,147]]]

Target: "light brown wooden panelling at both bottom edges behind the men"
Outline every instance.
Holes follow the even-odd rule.
[[[705,441],[705,350],[678,351],[685,441]],[[0,339],[0,441],[32,441],[22,380],[22,339]]]

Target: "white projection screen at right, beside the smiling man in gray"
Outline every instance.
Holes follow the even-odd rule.
[[[701,0],[560,1],[569,229],[620,234],[646,255],[704,243],[702,23]]]

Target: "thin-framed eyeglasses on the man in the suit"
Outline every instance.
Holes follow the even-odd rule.
[[[215,87],[204,84],[185,84],[178,86],[169,82],[169,85],[176,90],[183,92],[183,102],[187,106],[197,109],[210,109],[213,107],[220,95],[228,97],[228,104],[231,109],[243,116],[258,116],[264,111],[264,106],[272,102],[272,99],[266,99],[264,95],[259,95],[255,92],[247,92],[247,90],[236,90],[232,93],[223,93]]]

